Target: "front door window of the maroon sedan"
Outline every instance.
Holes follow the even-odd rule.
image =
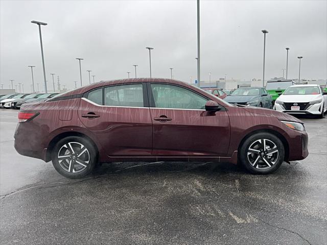
[[[207,99],[179,86],[151,84],[156,108],[205,109]]]

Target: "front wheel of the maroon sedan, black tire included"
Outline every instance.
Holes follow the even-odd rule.
[[[262,151],[264,143],[266,145],[266,151]],[[274,145],[276,148],[274,148]],[[277,152],[273,153],[276,150]],[[239,149],[241,164],[252,174],[266,175],[273,173],[283,163],[284,156],[285,149],[283,142],[270,133],[251,135],[243,142]]]

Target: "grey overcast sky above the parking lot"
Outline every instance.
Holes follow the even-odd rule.
[[[35,65],[36,83],[42,84],[38,28],[31,20],[47,22],[42,27],[48,87],[51,73],[61,84],[74,88],[88,84],[86,70],[95,80],[170,77],[189,82],[196,78],[196,1],[1,1],[1,84],[9,79],[30,90]],[[262,79],[263,34],[266,39],[266,78],[281,77],[290,47],[289,78],[327,77],[327,1],[201,1],[201,80]],[[91,77],[92,79],[92,77]]]

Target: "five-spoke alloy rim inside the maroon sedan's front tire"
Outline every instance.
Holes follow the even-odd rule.
[[[247,159],[255,168],[270,168],[278,160],[277,146],[269,139],[258,139],[248,148]]]

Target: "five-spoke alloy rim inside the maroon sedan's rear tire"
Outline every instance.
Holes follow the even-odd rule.
[[[61,146],[57,158],[59,165],[65,171],[79,173],[87,167],[90,161],[90,154],[83,144],[68,142]]]

